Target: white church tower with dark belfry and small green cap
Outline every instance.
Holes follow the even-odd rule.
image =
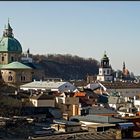
[[[109,58],[106,55],[106,52],[103,55],[103,58],[101,59],[101,64],[99,67],[99,74],[97,75],[97,80],[99,81],[112,81],[113,75],[112,75],[112,68],[109,64]]]

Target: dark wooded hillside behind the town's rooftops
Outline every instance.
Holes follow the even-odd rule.
[[[85,79],[87,74],[97,74],[99,68],[99,62],[93,58],[85,59],[69,54],[32,55],[32,58],[43,67],[46,77],[64,80]]]

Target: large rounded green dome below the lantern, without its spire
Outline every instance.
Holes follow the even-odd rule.
[[[14,37],[3,37],[0,41],[0,52],[22,52],[21,44]]]

